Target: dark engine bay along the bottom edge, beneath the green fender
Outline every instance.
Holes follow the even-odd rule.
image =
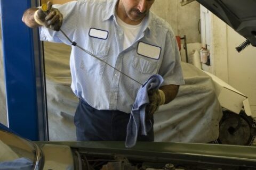
[[[254,167],[241,167],[210,164],[206,162],[184,162],[158,157],[139,157],[118,154],[100,154],[93,152],[79,152],[82,169],[85,170],[253,170]]]

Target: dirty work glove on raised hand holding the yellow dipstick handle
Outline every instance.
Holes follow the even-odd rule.
[[[52,7],[52,3],[49,1],[35,12],[34,19],[39,25],[43,25],[54,31],[59,31],[63,16],[57,8]]]

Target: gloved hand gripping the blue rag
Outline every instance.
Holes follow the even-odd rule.
[[[162,90],[153,89],[148,91],[148,98],[150,103],[146,106],[146,113],[150,118],[165,103],[165,95]]]

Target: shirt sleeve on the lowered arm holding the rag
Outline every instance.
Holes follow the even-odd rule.
[[[163,86],[169,84],[185,84],[181,68],[181,57],[175,35],[172,30],[167,31],[163,61],[159,74],[164,78]]]

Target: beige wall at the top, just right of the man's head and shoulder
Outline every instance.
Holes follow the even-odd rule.
[[[169,22],[176,35],[187,36],[187,43],[201,43],[198,31],[200,18],[199,3],[194,1],[185,6],[177,0],[155,1],[152,11]]]

